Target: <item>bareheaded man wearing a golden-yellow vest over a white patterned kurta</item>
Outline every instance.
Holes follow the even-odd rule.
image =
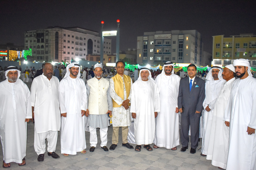
[[[132,79],[129,76],[124,75],[124,62],[117,61],[115,64],[117,74],[110,79],[110,96],[113,102],[113,113],[112,113],[112,145],[110,150],[115,150],[118,143],[119,127],[122,127],[122,139],[123,147],[133,149],[128,143],[128,126],[131,125],[131,114],[130,114],[130,101],[132,93]]]

